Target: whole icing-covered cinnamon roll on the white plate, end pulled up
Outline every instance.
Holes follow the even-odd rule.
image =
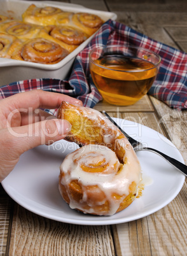
[[[141,166],[128,139],[90,108],[63,102],[58,117],[72,125],[66,139],[82,146],[60,166],[59,190],[66,203],[93,215],[113,215],[127,208],[141,181]]]

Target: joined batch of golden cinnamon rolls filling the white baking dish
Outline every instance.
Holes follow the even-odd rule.
[[[56,64],[92,36],[103,23],[99,16],[91,13],[74,13],[72,11],[63,11],[53,6],[37,7],[35,4],[31,4],[22,13],[22,20],[0,15],[0,50],[2,50],[0,57],[40,64]],[[15,36],[17,43],[20,41],[22,46],[17,48],[17,45],[13,43],[10,46],[11,51],[7,52],[10,43],[6,42],[6,45],[3,45],[5,38],[2,33],[10,35],[10,42],[11,36]],[[56,50],[63,51],[63,53],[59,55],[59,52],[55,51],[54,55],[54,51],[52,51],[53,55],[49,57],[51,56],[52,48],[50,48],[50,53],[47,50],[46,54],[43,54],[43,50],[40,48],[41,52],[39,53],[39,45],[34,50],[29,41],[32,40],[31,44],[33,45],[33,42],[39,39],[50,41],[51,45],[53,45],[53,50],[55,47]],[[44,45],[45,43],[43,43]],[[59,45],[59,48],[55,45]],[[26,48],[27,53],[25,55]],[[44,49],[46,49],[46,46]],[[29,50],[31,52],[28,52]],[[46,57],[47,55],[48,57]]]

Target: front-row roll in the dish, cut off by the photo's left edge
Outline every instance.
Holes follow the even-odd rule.
[[[10,59],[15,49],[21,43],[15,36],[0,32],[0,57]]]

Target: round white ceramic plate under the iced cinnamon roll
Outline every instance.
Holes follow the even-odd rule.
[[[144,125],[123,119],[114,120],[130,136],[184,162],[177,148],[165,137]],[[184,175],[152,152],[137,152],[143,179],[149,178],[140,198],[127,209],[111,217],[85,215],[72,210],[59,193],[59,166],[67,155],[78,148],[64,140],[51,146],[38,146],[25,152],[17,166],[2,182],[6,192],[18,204],[43,217],[81,225],[109,225],[130,222],[155,213],[170,203],[184,183]]]

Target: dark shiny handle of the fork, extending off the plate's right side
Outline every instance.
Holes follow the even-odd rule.
[[[142,147],[142,148],[137,147],[134,150],[135,151],[146,150],[146,151],[151,151],[151,152],[157,153],[158,155],[161,155],[165,160],[167,160],[167,162],[169,162],[169,164],[176,167],[179,171],[181,171],[181,173],[183,173],[187,177],[187,166],[179,162],[178,160],[172,157],[169,157],[168,155],[165,155],[165,153],[162,153],[156,150],[155,148],[148,148],[148,147]]]

